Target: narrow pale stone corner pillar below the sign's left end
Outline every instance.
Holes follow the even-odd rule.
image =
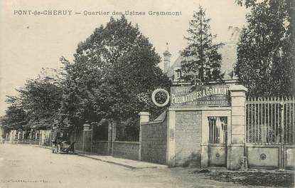
[[[167,113],[167,153],[166,164],[168,167],[175,166],[175,111],[168,111]]]

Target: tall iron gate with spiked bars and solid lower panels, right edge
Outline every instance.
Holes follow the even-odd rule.
[[[294,98],[246,101],[245,142],[250,167],[294,167]]]

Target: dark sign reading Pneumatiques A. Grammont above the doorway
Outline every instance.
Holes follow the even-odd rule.
[[[228,85],[172,87],[171,106],[230,106]]]

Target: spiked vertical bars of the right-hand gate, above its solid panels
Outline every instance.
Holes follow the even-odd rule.
[[[246,142],[294,145],[294,98],[246,101]]]

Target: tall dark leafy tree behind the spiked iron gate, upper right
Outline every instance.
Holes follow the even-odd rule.
[[[252,96],[294,93],[291,1],[237,1],[251,9],[237,47],[235,72]],[[293,51],[293,52],[292,52]]]

